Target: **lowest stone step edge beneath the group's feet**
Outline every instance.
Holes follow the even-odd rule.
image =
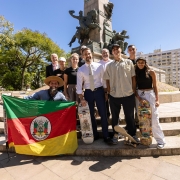
[[[98,140],[99,141],[99,140]],[[82,140],[78,140],[80,143],[78,149],[74,154],[76,156],[123,156],[123,157],[145,157],[145,156],[172,156],[180,155],[180,147],[164,147],[164,149],[157,149],[156,145],[153,147],[144,147],[144,148],[134,148],[131,146],[125,146],[119,148],[115,146],[108,146],[106,148],[88,148],[88,146],[83,144]],[[120,142],[119,142],[120,143]],[[123,143],[123,142],[121,142]],[[140,145],[139,145],[140,146]],[[141,145],[142,146],[142,145]],[[7,152],[5,144],[0,145],[0,152]],[[14,147],[9,148],[8,152],[15,152]]]

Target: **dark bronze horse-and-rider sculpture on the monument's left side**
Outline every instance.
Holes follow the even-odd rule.
[[[82,44],[85,39],[87,39],[87,42],[90,42],[89,39],[89,33],[91,29],[98,28],[99,31],[101,30],[101,27],[97,23],[97,11],[91,10],[87,13],[87,16],[83,16],[83,11],[79,11],[79,16],[74,15],[75,11],[71,10],[69,11],[69,14],[73,17],[79,20],[79,27],[76,27],[76,33],[72,37],[69,46],[72,46],[72,43],[75,42],[76,38],[78,39],[78,43]]]

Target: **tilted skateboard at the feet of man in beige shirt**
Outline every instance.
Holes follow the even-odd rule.
[[[124,136],[124,144],[125,145],[136,147],[139,144],[134,140],[134,138],[131,135],[129,135],[126,132],[126,130],[123,127],[120,127],[117,125],[117,126],[114,126],[114,130]]]

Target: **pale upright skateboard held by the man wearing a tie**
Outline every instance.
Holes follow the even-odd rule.
[[[86,144],[91,144],[94,141],[91,116],[89,112],[89,106],[82,106],[81,103],[78,106],[78,115],[81,126],[82,140]]]

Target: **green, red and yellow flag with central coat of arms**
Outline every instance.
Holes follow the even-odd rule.
[[[51,156],[77,149],[75,102],[2,98],[8,144],[16,153]]]

